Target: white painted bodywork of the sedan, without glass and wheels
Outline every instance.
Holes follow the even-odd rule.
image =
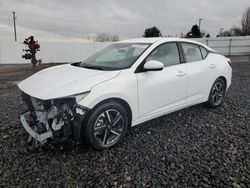
[[[126,101],[132,111],[132,126],[208,100],[214,81],[224,77],[231,84],[228,58],[209,53],[203,62],[164,67],[161,71],[135,73],[153,49],[166,42],[189,42],[213,51],[201,43],[177,38],[143,38],[124,43],[152,43],[128,69],[91,70],[70,64],[45,69],[19,84],[25,93],[48,100],[90,91],[79,105],[92,109],[105,99]],[[122,43],[121,42],[121,43]]]

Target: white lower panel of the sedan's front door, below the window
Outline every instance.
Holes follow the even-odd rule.
[[[141,117],[185,105],[186,64],[168,66],[162,71],[141,72],[137,79]]]

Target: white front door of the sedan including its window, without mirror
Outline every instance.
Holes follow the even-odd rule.
[[[137,73],[140,117],[163,113],[185,105],[186,64],[180,63],[174,42],[156,47],[145,61],[156,60],[164,64],[161,71]]]

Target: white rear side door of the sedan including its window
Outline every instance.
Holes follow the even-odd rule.
[[[214,64],[209,62],[208,52],[193,43],[181,43],[187,65],[187,103],[207,100],[213,79]]]

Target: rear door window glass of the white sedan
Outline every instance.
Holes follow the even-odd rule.
[[[181,45],[187,62],[202,60],[201,51],[198,45],[190,43],[182,43]]]

